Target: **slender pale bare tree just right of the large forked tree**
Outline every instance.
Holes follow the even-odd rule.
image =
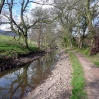
[[[33,22],[34,20],[39,20],[39,22],[36,24],[36,27],[33,28],[33,31],[35,30],[36,32],[37,46],[41,48],[44,38],[44,27],[46,27],[47,22],[49,21],[48,11],[43,9],[42,7],[38,7],[35,10],[32,10],[32,16]]]

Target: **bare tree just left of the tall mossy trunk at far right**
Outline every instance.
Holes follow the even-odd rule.
[[[76,2],[76,1],[75,1]],[[76,34],[76,42],[79,49],[84,47],[84,39],[87,37],[86,30],[87,30],[87,17],[85,14],[85,7],[82,4],[82,1],[77,2],[74,6],[75,9],[75,16],[77,24],[74,26],[75,34]]]

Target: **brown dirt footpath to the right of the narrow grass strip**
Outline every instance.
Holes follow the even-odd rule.
[[[85,58],[84,55],[75,54],[84,69],[88,99],[99,99],[99,68]]]

